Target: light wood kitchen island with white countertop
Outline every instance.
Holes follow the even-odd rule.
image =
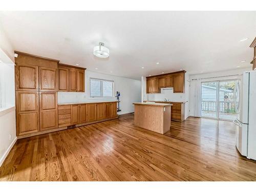
[[[170,103],[137,102],[134,104],[135,126],[164,134],[170,130]]]

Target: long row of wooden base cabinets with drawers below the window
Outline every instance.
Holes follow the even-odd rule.
[[[98,122],[117,117],[116,102],[58,105],[58,126]]]

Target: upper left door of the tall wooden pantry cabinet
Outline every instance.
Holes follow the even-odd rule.
[[[38,67],[15,66],[15,89],[23,91],[38,91]]]

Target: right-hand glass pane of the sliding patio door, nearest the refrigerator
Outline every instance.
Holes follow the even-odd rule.
[[[220,81],[220,119],[234,120],[237,117],[234,103],[236,82],[236,80]]]

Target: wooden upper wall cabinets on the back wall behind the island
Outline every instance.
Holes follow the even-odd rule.
[[[185,71],[146,77],[146,93],[160,93],[161,88],[174,88],[174,93],[183,93]]]

